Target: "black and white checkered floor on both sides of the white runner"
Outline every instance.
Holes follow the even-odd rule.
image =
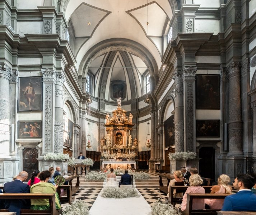
[[[101,192],[101,189],[102,188],[80,188],[80,191],[74,196],[75,199],[85,201],[90,209],[94,201],[97,199],[99,192]],[[138,190],[150,206],[153,206],[154,202],[157,201],[158,198],[162,198],[164,201],[164,196],[166,196],[166,194],[158,188],[138,188]],[[62,204],[61,206],[67,204],[68,203]]]

